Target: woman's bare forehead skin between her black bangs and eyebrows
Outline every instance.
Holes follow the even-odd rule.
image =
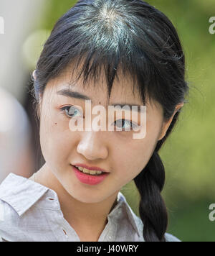
[[[74,70],[73,72],[76,75]],[[47,83],[44,93],[46,93],[47,97],[52,97],[57,95],[57,92],[61,90],[72,90],[82,93],[91,99],[92,104],[103,104],[104,106],[115,103],[143,105],[138,87],[133,86],[133,79],[130,76],[123,76],[122,73],[119,73],[118,78],[115,78],[113,82],[110,99],[108,97],[108,86],[104,73],[101,73],[97,81],[87,81],[85,87],[83,87],[82,78],[76,79],[76,76],[72,76],[71,67],[67,67],[57,78]],[[151,111],[161,112],[161,106],[156,101],[149,103],[148,99],[146,99],[146,106],[148,111],[151,109]]]

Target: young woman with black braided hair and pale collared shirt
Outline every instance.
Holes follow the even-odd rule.
[[[29,179],[11,173],[1,183],[3,240],[179,241],[166,233],[158,150],[185,103],[184,76],[180,40],[162,12],[140,0],[78,1],[55,24],[33,73],[45,164]],[[92,117],[86,101],[146,106],[146,122],[138,111],[138,122],[106,116],[111,131],[73,131],[74,118]],[[135,125],[146,128],[138,140]],[[130,180],[140,218],[120,193]]]

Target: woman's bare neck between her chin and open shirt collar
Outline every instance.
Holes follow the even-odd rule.
[[[83,237],[85,241],[89,237],[92,241],[92,234],[94,234],[94,240],[97,241],[108,223],[108,214],[117,204],[118,191],[98,203],[87,204],[77,201],[65,190],[46,165],[37,172],[35,181],[57,193],[64,218],[75,229],[79,237]]]

